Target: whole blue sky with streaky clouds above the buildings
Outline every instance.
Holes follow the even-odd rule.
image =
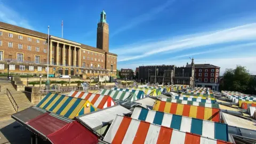
[[[255,0],[0,0],[0,21],[96,46],[104,9],[117,68],[210,63],[256,75]]]

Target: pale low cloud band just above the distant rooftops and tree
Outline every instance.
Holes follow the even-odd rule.
[[[159,61],[148,61],[148,62],[137,62],[137,63],[123,63],[118,64],[118,67],[129,67],[135,69],[139,66],[147,66],[147,65],[175,65],[177,67],[185,66],[186,63],[189,62],[189,59],[183,60],[172,60],[170,62],[166,60]],[[195,59],[195,63],[210,63],[211,65],[215,65],[220,67],[220,75],[222,75],[226,68],[235,68],[236,65],[245,66],[248,70],[250,70],[251,74],[256,75],[256,57],[233,57],[233,58],[215,58],[215,59]]]

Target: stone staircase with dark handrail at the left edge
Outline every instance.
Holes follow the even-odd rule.
[[[21,91],[16,91],[9,81],[5,81],[0,79],[0,86],[1,86],[1,92],[0,92],[0,118],[1,117],[10,117],[10,115],[16,113],[15,109],[12,106],[12,103],[10,99],[7,96],[8,89],[10,93],[12,94],[13,99],[17,103],[19,109],[18,111],[21,111],[23,109],[26,109],[30,106],[33,106],[33,104],[28,100],[25,93]],[[11,96],[10,96],[11,97]],[[15,105],[15,104],[14,104]]]

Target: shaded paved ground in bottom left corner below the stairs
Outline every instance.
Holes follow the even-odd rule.
[[[0,121],[0,144],[30,143],[30,131],[13,119]]]

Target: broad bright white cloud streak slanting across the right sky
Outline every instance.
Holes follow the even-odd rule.
[[[238,41],[250,41],[256,39],[256,23],[249,23],[234,28],[218,31],[211,31],[204,34],[175,37],[164,41],[144,43],[144,45],[133,46],[132,49],[123,49],[120,53],[115,51],[120,57],[118,61],[129,61],[154,55],[157,53],[172,53],[195,47],[223,44]],[[121,50],[121,49],[119,49]],[[127,55],[131,57],[127,58]],[[126,58],[122,58],[126,57]]]

